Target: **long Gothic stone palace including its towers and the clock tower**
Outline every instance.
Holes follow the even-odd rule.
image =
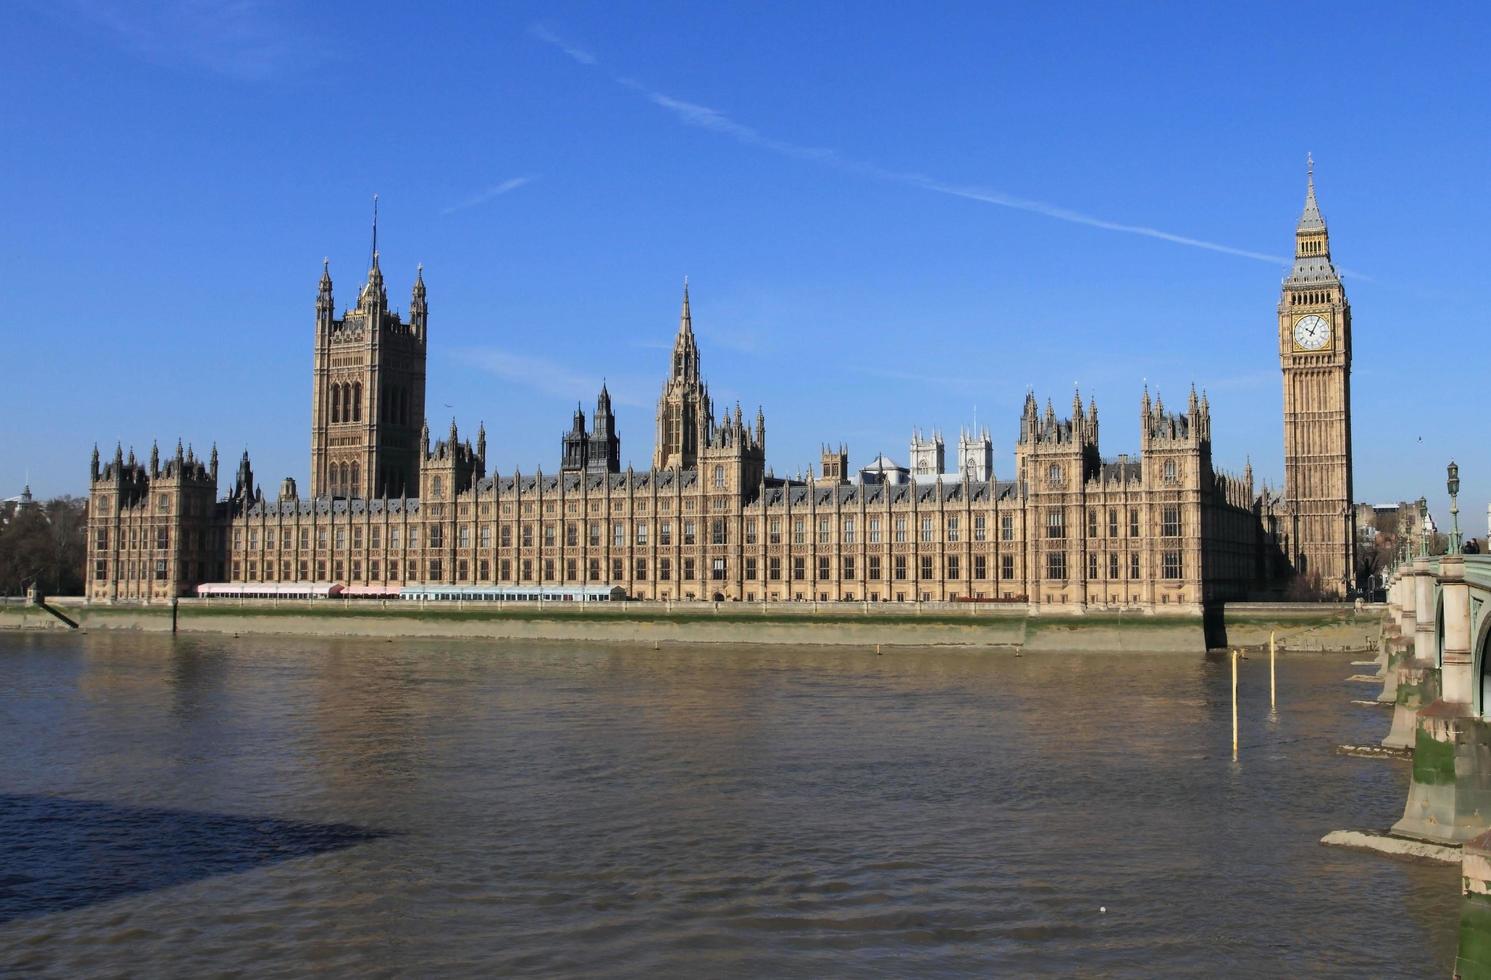
[[[374,239],[376,240],[376,239]],[[1008,601],[1032,612],[1194,612],[1278,595],[1294,577],[1345,594],[1351,507],[1351,307],[1330,258],[1314,176],[1278,306],[1282,491],[1212,465],[1206,397],[1167,409],[1145,389],[1139,455],[1103,458],[1097,406],[1062,418],[1026,395],[1014,468],[996,479],[987,433],[941,436],[911,465],[856,473],[844,447],[820,473],[775,477],[766,421],[716,415],[687,283],[646,471],[620,468],[602,386],[579,409],[556,473],[488,468],[486,431],[425,422],[428,306],[420,270],[407,319],[391,312],[374,248],[356,306],[316,297],[310,492],[258,486],[243,453],[219,495],[218,452],[180,443],[148,461],[94,449],[88,598],[160,601],[207,583],[605,586],[640,600]]]

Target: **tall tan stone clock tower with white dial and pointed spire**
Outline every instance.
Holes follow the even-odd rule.
[[[1279,295],[1284,371],[1284,497],[1294,571],[1345,595],[1355,577],[1351,506],[1351,304],[1330,261],[1309,161],[1294,268]]]

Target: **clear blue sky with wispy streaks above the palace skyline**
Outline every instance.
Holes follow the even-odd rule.
[[[94,442],[309,467],[321,260],[429,286],[428,413],[556,468],[602,377],[646,465],[689,276],[716,404],[778,474],[1027,386],[1138,449],[1145,380],[1279,479],[1279,277],[1314,152],[1355,322],[1360,500],[1491,495],[1485,4],[7,9],[0,495]]]

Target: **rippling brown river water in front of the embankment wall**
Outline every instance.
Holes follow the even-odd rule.
[[[0,970],[1448,976],[1348,661],[0,634]]]

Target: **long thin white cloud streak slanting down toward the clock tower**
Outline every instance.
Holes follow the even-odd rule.
[[[534,25],[529,28],[531,33],[544,40],[546,43],[564,51],[567,55],[586,66],[596,66],[599,61],[590,55],[583,48],[564,40],[552,30],[543,25]],[[838,151],[825,146],[804,146],[801,143],[792,143],[787,140],[778,140],[771,136],[763,134],[760,130],[732,119],[725,112],[704,106],[686,98],[678,98],[669,95],[668,92],[650,88],[634,78],[628,76],[613,76],[613,81],[623,88],[629,88],[647,101],[659,109],[671,113],[678,122],[684,125],[692,125],[701,130],[708,130],[711,133],[719,133],[720,136],[728,136],[738,143],[747,146],[759,146],[762,149],[780,154],[783,157],[790,157],[793,160],[807,160],[819,163],[836,170],[844,170],[847,173],[856,173],[866,178],[874,178],[878,180],[889,180],[893,183],[904,183],[907,186],[914,186],[923,191],[930,191],[933,194],[944,194],[948,197],[957,197],[962,200],[977,201],[980,204],[992,204],[994,207],[1006,207],[1011,210],[1021,210],[1032,215],[1041,215],[1044,218],[1051,218],[1056,221],[1065,221],[1068,224],[1084,225],[1088,228],[1100,228],[1103,231],[1117,231],[1120,234],[1135,234],[1145,239],[1157,239],[1160,242],[1169,242],[1172,245],[1182,245],[1187,248],[1206,249],[1209,252],[1220,252],[1223,255],[1236,255],[1239,258],[1251,258],[1260,263],[1272,263],[1275,266],[1287,266],[1288,258],[1282,255],[1270,255],[1267,252],[1255,252],[1252,249],[1236,248],[1232,245],[1223,245],[1220,242],[1208,242],[1205,239],[1196,239],[1185,234],[1176,234],[1173,231],[1164,231],[1163,228],[1153,228],[1150,225],[1129,224],[1123,221],[1109,221],[1106,218],[1099,218],[1096,215],[1087,215],[1071,207],[1063,207],[1060,204],[1053,204],[1048,201],[1033,200],[1027,197],[1018,197],[1014,194],[1005,194],[1003,191],[996,191],[984,186],[971,186],[950,183],[930,178],[920,173],[902,173],[896,170],[887,170],[877,164],[851,160],[841,155]],[[1357,279],[1366,279],[1360,273],[1352,273]]]

